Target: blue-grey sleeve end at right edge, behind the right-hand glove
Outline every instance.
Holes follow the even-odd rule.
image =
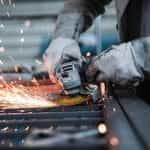
[[[134,59],[137,68],[145,78],[150,77],[150,37],[143,37],[131,42],[134,49]]]

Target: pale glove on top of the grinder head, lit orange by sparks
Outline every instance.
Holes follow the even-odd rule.
[[[50,75],[55,73],[58,64],[73,60],[79,64],[82,63],[82,55],[78,43],[69,38],[60,37],[53,40],[43,58]]]

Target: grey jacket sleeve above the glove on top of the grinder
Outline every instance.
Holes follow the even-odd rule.
[[[53,38],[66,37],[78,39],[93,22],[104,13],[104,6],[112,0],[65,0],[64,9],[56,23]]]

